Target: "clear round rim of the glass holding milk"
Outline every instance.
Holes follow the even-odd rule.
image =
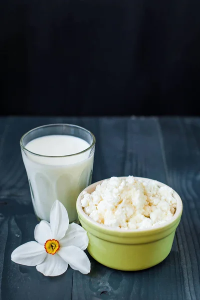
[[[36,129],[43,128],[43,127],[50,127],[50,126],[56,126],[56,125],[58,125],[58,126],[61,126],[61,125],[63,126],[63,125],[65,125],[65,126],[68,126],[68,127],[76,127],[76,128],[82,129],[82,130],[84,130],[84,131],[87,131],[87,132],[90,133],[91,136],[92,136],[92,143],[91,143],[91,145],[90,145],[88,148],[86,148],[85,150],[82,150],[82,151],[80,151],[80,152],[76,152],[76,153],[68,154],[68,155],[58,155],[58,156],[38,154],[38,153],[35,153],[35,152],[32,152],[32,151],[28,150],[28,149],[23,145],[23,139],[24,139],[24,137],[25,137],[26,135],[28,135],[29,133],[31,133],[32,131],[34,131],[34,130],[36,130]],[[53,134],[49,134],[49,135],[53,135]],[[65,135],[65,134],[59,134],[59,135]],[[46,136],[46,135],[44,135],[44,136]],[[72,135],[72,136],[74,136],[74,135]],[[46,124],[46,125],[42,125],[42,126],[38,126],[38,127],[32,128],[32,129],[30,129],[29,131],[25,132],[25,133],[21,136],[20,141],[19,141],[20,147],[21,147],[21,149],[23,149],[24,151],[27,151],[27,152],[29,152],[30,154],[33,154],[33,155],[36,155],[36,156],[41,156],[41,157],[52,157],[52,158],[69,157],[69,156],[75,156],[75,155],[84,153],[84,152],[90,150],[90,149],[95,145],[95,142],[96,142],[96,138],[95,138],[94,134],[93,134],[90,130],[88,130],[88,129],[84,128],[84,127],[75,125],[75,124],[68,124],[68,123],[53,123],[53,124]]]

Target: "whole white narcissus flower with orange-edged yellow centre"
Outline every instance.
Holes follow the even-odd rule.
[[[68,264],[83,274],[90,272],[90,261],[83,250],[88,246],[87,232],[78,224],[69,224],[67,210],[56,200],[50,211],[50,223],[40,221],[35,226],[36,241],[18,246],[11,254],[11,260],[36,265],[45,276],[64,273]]]

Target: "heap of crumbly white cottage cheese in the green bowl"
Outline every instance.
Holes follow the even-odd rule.
[[[173,189],[156,180],[111,177],[91,193],[83,192],[82,207],[101,224],[123,229],[151,228],[170,220],[177,200]]]

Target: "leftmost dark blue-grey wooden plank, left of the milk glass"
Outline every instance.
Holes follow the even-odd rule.
[[[56,122],[51,117],[0,118],[0,218],[9,221],[0,224],[0,286],[2,300],[16,299],[70,299],[72,291],[71,268],[59,277],[44,277],[35,267],[15,264],[11,252],[21,243],[34,240],[34,227],[38,223],[29,193],[23,166],[19,139],[31,128]],[[4,126],[4,127],[3,127]],[[2,263],[3,262],[3,270]]]

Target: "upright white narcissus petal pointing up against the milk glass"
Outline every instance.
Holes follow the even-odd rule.
[[[64,205],[55,200],[50,211],[50,226],[52,237],[60,240],[66,233],[69,226],[68,213]]]

